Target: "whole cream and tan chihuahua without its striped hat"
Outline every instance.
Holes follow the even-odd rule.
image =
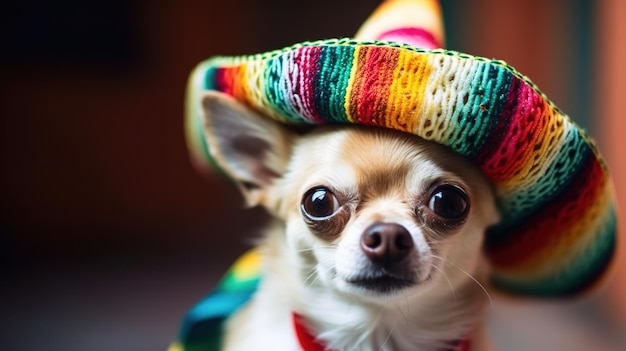
[[[219,168],[275,218],[224,350],[300,350],[294,321],[320,350],[489,349],[483,241],[500,215],[476,166],[390,129],[293,128],[220,92],[202,109]]]

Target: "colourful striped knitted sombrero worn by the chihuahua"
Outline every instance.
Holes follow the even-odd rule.
[[[493,183],[502,215],[486,237],[494,286],[534,296],[586,290],[609,265],[616,236],[611,181],[593,142],[505,62],[424,48],[443,42],[440,22],[390,20],[410,6],[422,11],[414,19],[438,18],[433,1],[387,1],[357,39],[202,62],[187,97],[195,162],[213,163],[202,132],[207,90],[284,123],[411,133],[467,157]],[[403,42],[364,40],[378,38]]]

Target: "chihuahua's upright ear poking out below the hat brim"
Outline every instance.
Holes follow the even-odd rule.
[[[267,188],[285,171],[293,134],[224,93],[205,93],[202,109],[211,156],[248,206],[263,203]]]

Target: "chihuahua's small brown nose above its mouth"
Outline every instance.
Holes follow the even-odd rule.
[[[361,250],[383,267],[402,261],[413,247],[409,231],[396,223],[374,223],[361,236]]]

